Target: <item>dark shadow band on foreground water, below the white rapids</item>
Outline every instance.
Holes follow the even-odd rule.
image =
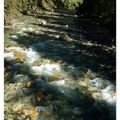
[[[5,65],[7,67],[11,66],[11,71],[16,74],[24,74],[29,75],[30,79],[33,80],[33,84],[31,87],[23,87],[21,90],[16,90],[16,94],[14,96],[9,97],[8,100],[5,100],[6,103],[14,102],[16,103],[19,100],[25,100],[29,101],[32,99],[31,94],[36,94],[39,91],[44,90],[44,95],[47,96],[49,94],[53,95],[52,100],[50,100],[50,103],[53,105],[53,113],[58,116],[58,120],[62,117],[66,118],[66,120],[74,120],[74,119],[84,119],[84,120],[115,120],[115,108],[113,106],[107,107],[106,103],[104,103],[101,100],[94,100],[89,94],[84,94],[81,92],[80,89],[76,88],[75,90],[69,88],[69,87],[56,87],[54,85],[51,85],[47,82],[45,82],[42,79],[36,79],[34,75],[32,75],[32,72],[30,70],[30,67],[24,63],[18,63],[16,62],[17,67],[15,67],[15,61],[7,61],[5,60]],[[24,69],[23,69],[24,66]],[[27,69],[27,73],[25,70]],[[29,71],[29,72],[28,72]],[[17,81],[14,81],[14,74],[11,75],[11,79],[7,81],[8,84],[20,82],[19,79]],[[20,79],[22,80],[22,79]],[[24,82],[22,80],[21,82]],[[24,92],[26,91],[27,92]],[[63,92],[64,91],[64,92]],[[57,104],[57,100],[62,100],[61,104]],[[67,104],[64,103],[64,101],[67,101]],[[103,102],[103,104],[101,104]],[[47,100],[43,98],[42,101],[38,102],[32,102],[31,104],[33,106],[46,106],[48,105]],[[69,106],[69,107],[68,107]],[[68,107],[68,108],[67,108]],[[67,111],[65,111],[67,108]],[[73,114],[70,110],[78,109],[79,113]],[[108,109],[109,108],[109,109]],[[111,110],[112,111],[111,111]],[[71,118],[71,116],[74,115],[75,118]],[[66,116],[66,117],[65,117]]]

